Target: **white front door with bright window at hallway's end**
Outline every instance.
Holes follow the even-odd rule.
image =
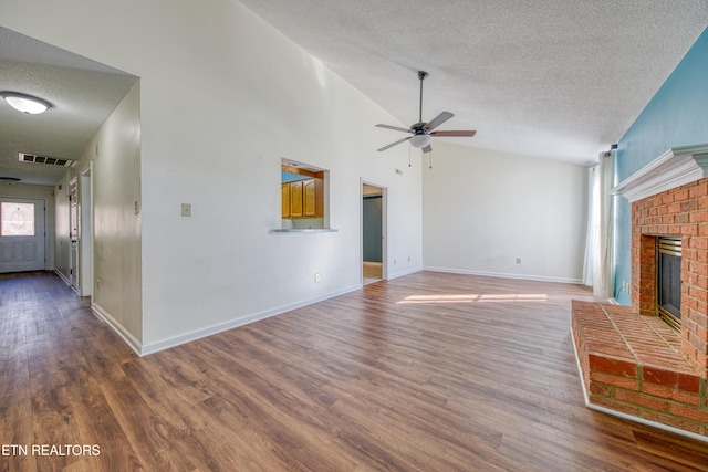
[[[0,198],[0,273],[44,264],[44,200]]]

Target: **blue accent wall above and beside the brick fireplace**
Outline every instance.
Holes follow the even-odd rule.
[[[617,182],[666,150],[708,143],[708,29],[686,53],[618,143]],[[615,296],[631,303],[622,282],[632,281],[632,208],[624,197],[615,206]]]

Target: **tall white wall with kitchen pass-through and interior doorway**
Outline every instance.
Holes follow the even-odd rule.
[[[389,276],[421,266],[420,167],[375,150],[396,120],[240,3],[9,0],[0,18],[140,77],[139,350],[358,287],[362,178],[388,188]],[[337,232],[270,232],[282,158],[330,170]]]

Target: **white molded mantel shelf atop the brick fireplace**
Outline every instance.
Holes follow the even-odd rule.
[[[673,147],[610,192],[629,202],[708,177],[708,144]]]

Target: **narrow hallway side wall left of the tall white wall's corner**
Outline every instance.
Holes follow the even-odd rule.
[[[127,94],[75,168],[92,162],[92,303],[132,343],[143,336],[139,91]]]

